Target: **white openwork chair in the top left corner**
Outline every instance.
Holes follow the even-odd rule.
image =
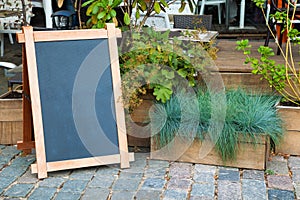
[[[29,24],[32,17],[30,1],[24,0],[26,19],[23,16],[21,0],[0,0],[0,56],[4,55],[4,34],[9,35],[10,43],[13,44],[13,33],[21,32],[23,24]]]

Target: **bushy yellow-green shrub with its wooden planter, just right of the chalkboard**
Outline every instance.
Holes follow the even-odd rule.
[[[169,101],[182,82],[187,88],[195,87],[197,75],[204,73],[206,66],[212,66],[212,58],[218,51],[213,41],[187,43],[177,37],[171,38],[170,34],[169,30],[157,32],[144,28],[142,32],[123,34],[120,45],[127,132],[140,141],[148,138],[147,142],[142,142],[148,146],[151,135],[148,111],[153,102]]]

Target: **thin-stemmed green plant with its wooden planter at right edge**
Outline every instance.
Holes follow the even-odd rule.
[[[264,1],[255,0],[254,2],[264,11]],[[292,19],[295,19],[295,12],[293,12],[295,7],[292,1],[287,0],[286,9],[278,10],[275,14],[270,15],[272,19],[282,24],[281,33],[285,34],[287,38],[284,48],[272,32],[270,24],[267,24],[278,46],[280,56],[283,58],[283,63],[278,64],[272,59],[272,56],[275,55],[274,51],[267,46],[261,46],[257,49],[260,58],[251,56],[251,45],[249,45],[248,40],[238,41],[237,49],[244,51],[247,56],[246,63],[251,63],[253,67],[252,72],[260,74],[282,96],[282,101],[277,108],[285,121],[286,133],[281,144],[277,146],[276,152],[300,155],[300,76],[298,63],[294,59],[296,51],[293,51],[295,46],[298,47],[300,44],[300,33],[292,23]],[[263,14],[266,16],[264,12]]]

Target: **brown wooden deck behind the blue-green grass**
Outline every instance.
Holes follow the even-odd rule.
[[[246,56],[241,51],[237,51],[237,40],[219,39],[217,47],[219,52],[218,58],[215,60],[215,65],[219,70],[225,88],[238,88],[242,87],[251,91],[258,92],[272,92],[272,88],[267,81],[261,80],[261,76],[251,73],[252,68],[250,64],[244,64]],[[250,41],[253,47],[252,56],[259,58],[257,48],[264,44],[264,40]],[[275,52],[277,47],[274,42],[269,45]],[[299,49],[297,46],[293,47],[295,64],[300,62]],[[282,55],[275,55],[273,59],[276,63],[284,63]],[[299,65],[298,65],[299,68]]]

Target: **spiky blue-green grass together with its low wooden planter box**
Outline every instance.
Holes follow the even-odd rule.
[[[278,144],[283,134],[274,107],[278,97],[241,89],[225,98],[222,91],[197,90],[195,97],[179,92],[152,109],[150,157],[265,169],[269,138]]]

